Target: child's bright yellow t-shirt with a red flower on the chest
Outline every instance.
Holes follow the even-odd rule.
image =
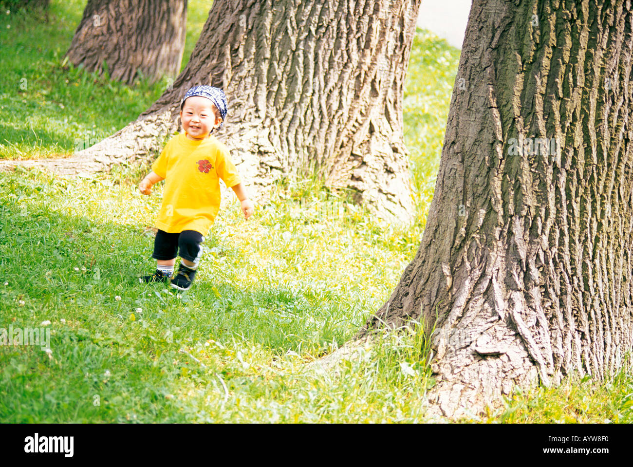
[[[199,141],[176,135],[152,170],[165,178],[156,227],[172,234],[196,230],[208,235],[220,210],[220,178],[227,187],[241,182],[229,149],[211,135]]]

